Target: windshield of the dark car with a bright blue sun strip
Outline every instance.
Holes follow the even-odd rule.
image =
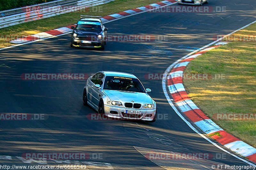
[[[94,21],[78,21],[76,29],[82,29],[86,31],[101,32],[100,22]]]

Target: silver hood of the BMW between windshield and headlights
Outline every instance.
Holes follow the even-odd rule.
[[[103,90],[112,101],[124,103],[152,104],[153,101],[147,93],[123,92],[117,90]],[[134,102],[132,102],[134,101]]]

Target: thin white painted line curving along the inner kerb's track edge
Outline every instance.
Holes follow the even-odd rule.
[[[236,33],[237,31],[240,31],[240,30],[242,30],[242,29],[244,29],[244,28],[246,28],[246,27],[248,27],[248,26],[250,26],[250,25],[252,25],[252,24],[254,24],[254,23],[256,23],[256,20],[253,21],[253,22],[251,22],[251,23],[249,23],[249,24],[247,24],[246,26],[243,26],[243,27],[241,27],[241,28],[239,28],[239,29],[233,31],[232,33],[227,34],[226,36],[229,36],[229,35],[231,35],[231,34],[233,34],[233,33]],[[226,152],[226,153],[228,153],[228,154],[234,156],[235,158],[237,158],[237,159],[239,159],[239,160],[241,160],[241,161],[243,161],[243,162],[245,162],[245,163],[247,163],[247,164],[249,164],[249,165],[256,166],[255,164],[253,164],[253,163],[251,163],[251,162],[249,162],[249,161],[247,161],[247,160],[245,160],[245,159],[243,159],[243,158],[240,158],[240,157],[236,156],[235,154],[233,154],[233,153],[231,153],[231,152],[225,150],[224,148],[220,147],[218,144],[214,143],[211,139],[209,139],[208,137],[204,136],[204,134],[201,134],[194,126],[192,126],[192,124],[191,124],[190,122],[188,122],[188,121],[185,119],[185,117],[183,117],[183,116],[180,114],[180,112],[177,110],[177,108],[176,108],[176,107],[174,106],[174,104],[172,103],[172,100],[170,99],[170,97],[169,97],[169,95],[168,95],[168,92],[166,91],[166,87],[167,87],[167,85],[166,85],[166,80],[167,80],[167,79],[166,79],[166,75],[168,75],[168,73],[170,73],[170,71],[172,70],[172,68],[174,67],[175,64],[179,63],[181,60],[187,58],[188,56],[193,55],[194,53],[201,51],[202,49],[205,49],[205,48],[208,48],[208,47],[212,46],[213,44],[215,44],[215,43],[217,43],[217,42],[223,40],[224,38],[225,38],[225,36],[222,37],[222,38],[219,38],[219,39],[216,40],[216,41],[213,41],[213,42],[211,42],[211,43],[205,45],[205,46],[202,47],[202,48],[199,48],[199,49],[197,49],[197,50],[195,50],[195,51],[193,51],[193,52],[191,52],[191,53],[189,53],[189,54],[187,54],[187,55],[181,57],[179,60],[177,60],[176,62],[172,63],[172,64],[164,71],[163,79],[162,79],[162,88],[163,88],[163,91],[164,91],[165,98],[167,99],[167,101],[168,101],[168,103],[170,104],[170,106],[173,108],[173,110],[176,112],[176,114],[177,114],[178,116],[180,116],[180,118],[181,118],[193,131],[195,131],[198,135],[200,135],[201,137],[203,137],[205,140],[207,140],[208,142],[210,142],[211,144],[213,144],[214,146],[216,146],[216,147],[219,148],[220,150],[222,150],[222,151],[224,151],[224,152]]]

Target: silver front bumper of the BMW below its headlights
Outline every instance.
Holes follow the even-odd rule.
[[[136,110],[141,111],[140,115],[127,115],[125,114],[125,110]],[[155,109],[134,109],[134,108],[124,108],[124,107],[115,107],[104,105],[105,115],[112,118],[119,118],[124,120],[144,120],[144,121],[152,121],[156,115]],[[110,111],[115,112],[115,114],[111,114]],[[152,116],[151,116],[152,115]],[[149,117],[150,116],[150,117]]]

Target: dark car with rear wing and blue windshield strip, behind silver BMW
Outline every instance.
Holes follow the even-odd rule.
[[[71,28],[71,47],[105,48],[108,28],[102,24],[101,16],[81,15],[76,27]]]

